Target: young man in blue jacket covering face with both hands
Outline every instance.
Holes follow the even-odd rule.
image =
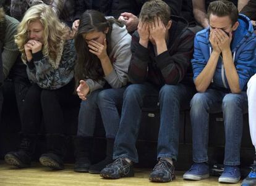
[[[209,177],[209,113],[223,111],[225,129],[224,171],[219,182],[240,180],[240,147],[245,89],[256,70],[256,38],[250,20],[238,14],[232,2],[214,1],[208,7],[209,27],[197,33],[192,67],[198,91],[190,102],[194,164],[183,178]]]

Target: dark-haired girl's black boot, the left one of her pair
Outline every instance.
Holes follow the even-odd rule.
[[[88,168],[91,165],[89,156],[92,144],[92,137],[75,137],[75,172],[88,172]]]

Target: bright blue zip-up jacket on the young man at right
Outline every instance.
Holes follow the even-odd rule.
[[[248,17],[239,14],[238,22],[239,26],[233,33],[231,52],[239,76],[240,89],[245,91],[247,82],[256,72],[256,36]],[[209,34],[210,28],[208,27],[199,31],[195,36],[194,58],[191,60],[194,81],[210,59],[212,47],[209,41]],[[221,55],[210,86],[230,91]]]

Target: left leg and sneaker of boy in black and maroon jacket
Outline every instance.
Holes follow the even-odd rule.
[[[139,161],[135,145],[140,128],[143,97],[157,94],[158,89],[151,84],[131,84],[127,87],[114,142],[113,158],[116,161],[101,171],[101,177],[118,179],[134,176],[132,162]]]

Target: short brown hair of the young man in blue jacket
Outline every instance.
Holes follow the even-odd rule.
[[[210,15],[217,15],[218,17],[229,16],[231,19],[232,25],[237,22],[238,20],[238,10],[237,7],[231,1],[227,0],[220,0],[220,1],[213,1],[208,6],[207,16],[208,19]]]

